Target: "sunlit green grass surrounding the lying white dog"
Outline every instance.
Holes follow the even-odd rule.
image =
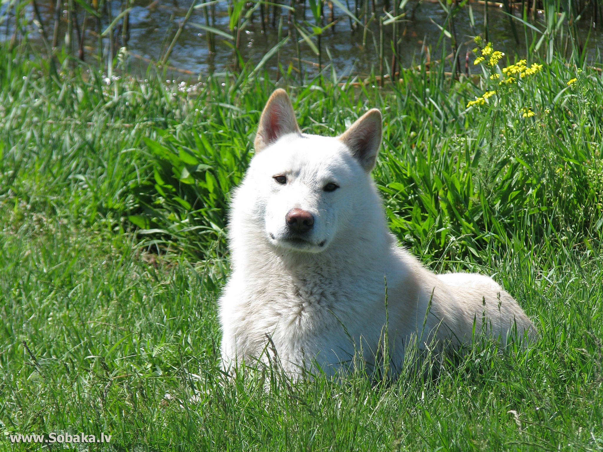
[[[229,191],[273,84],[186,93],[86,68],[52,80],[2,52],[0,431],[112,435],[98,450],[603,448],[598,72],[554,61],[469,110],[487,79],[292,89],[315,133],[379,107],[374,177],[392,230],[431,268],[493,274],[542,338],[476,344],[437,377],[266,392],[253,377],[224,384],[216,300]]]

